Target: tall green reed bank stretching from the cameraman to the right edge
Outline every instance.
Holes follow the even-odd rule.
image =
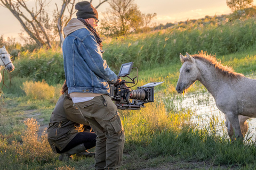
[[[227,55],[255,46],[255,19],[219,21],[207,24],[188,22],[172,28],[113,39],[105,45],[105,59],[118,69],[122,63],[133,61],[144,70],[148,67],[170,65],[179,61],[179,54]]]

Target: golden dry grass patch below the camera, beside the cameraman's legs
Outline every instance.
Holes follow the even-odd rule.
[[[138,111],[121,111],[127,138],[137,138],[138,134],[153,134],[156,131],[180,130],[189,115],[186,113],[167,113],[160,102],[148,103]]]

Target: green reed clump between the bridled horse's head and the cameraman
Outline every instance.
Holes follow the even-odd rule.
[[[45,80],[49,84],[57,84],[65,80],[61,49],[41,48],[32,53],[22,52],[13,65],[15,66],[13,76],[34,81]]]

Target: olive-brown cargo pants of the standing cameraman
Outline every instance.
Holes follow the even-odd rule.
[[[124,129],[111,98],[101,95],[75,105],[97,134],[95,169],[120,167],[125,141]]]

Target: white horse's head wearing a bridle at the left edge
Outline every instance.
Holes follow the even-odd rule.
[[[2,69],[2,66],[5,67],[6,70],[9,72],[12,72],[15,67],[12,64],[11,61],[11,55],[7,52],[5,49],[5,46],[3,48],[0,48],[0,71]],[[2,81],[2,74],[0,73],[0,82]]]

